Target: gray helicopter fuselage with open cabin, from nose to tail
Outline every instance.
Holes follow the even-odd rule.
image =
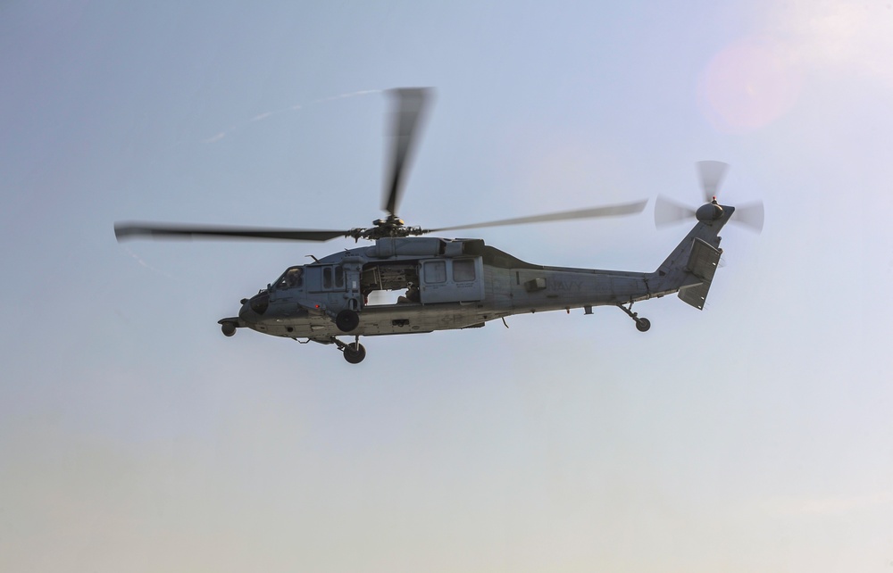
[[[220,323],[228,334],[251,328],[271,336],[338,344],[336,336],[427,333],[482,327],[488,320],[514,314],[623,308],[684,287],[709,287],[719,259],[720,227],[698,223],[651,273],[535,265],[480,239],[384,237],[375,245],[289,268],[244,299],[238,317]],[[707,278],[705,269],[700,278],[692,274],[698,251],[702,258],[709,255]],[[396,303],[374,303],[382,291],[404,289]],[[358,318],[348,330],[338,321],[343,312]]]

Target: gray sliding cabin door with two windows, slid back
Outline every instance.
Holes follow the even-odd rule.
[[[421,262],[421,303],[470,303],[484,297],[480,257]]]

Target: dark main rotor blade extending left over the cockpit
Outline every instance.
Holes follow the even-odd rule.
[[[157,225],[155,223],[123,222],[114,224],[118,241],[137,237],[151,238],[250,238],[285,241],[328,241],[348,237],[350,231],[309,230],[295,228],[205,227],[201,225]]]

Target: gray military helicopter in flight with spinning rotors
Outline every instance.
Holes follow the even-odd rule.
[[[704,205],[690,209],[658,197],[655,223],[665,225],[689,217],[697,223],[654,272],[549,267],[523,262],[478,238],[419,237],[467,228],[630,215],[643,211],[647,201],[456,227],[408,227],[396,211],[430,90],[401,88],[389,93],[394,96],[396,113],[382,206],[388,216],[373,221],[371,227],[310,230],[121,222],[115,223],[115,236],[119,241],[132,237],[373,241],[370,246],[319,260],[313,257],[309,264],[288,268],[256,295],[242,299],[238,316],[218,321],[226,336],[251,328],[302,344],[335,345],[346,361],[356,364],[366,355],[360,336],[479,328],[489,320],[527,312],[582,308],[591,314],[594,306],[611,305],[645,332],[651,323],[632,311],[633,303],[679,293],[683,302],[703,309],[722,254],[720,229],[734,213],[738,213],[736,220],[752,228],[763,226],[762,203],[738,209],[717,203],[715,194],[725,163],[700,162]],[[396,302],[375,303],[381,291],[404,290]],[[338,336],[353,336],[354,341],[347,343]]]

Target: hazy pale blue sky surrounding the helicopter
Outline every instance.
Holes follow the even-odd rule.
[[[255,4],[0,4],[0,570],[891,570],[889,1]],[[525,315],[358,366],[216,324],[352,241],[115,242],[368,225],[400,86],[437,88],[409,224],[697,204],[709,159],[764,232],[647,334]],[[688,230],[652,206],[466,236],[650,271]]]

